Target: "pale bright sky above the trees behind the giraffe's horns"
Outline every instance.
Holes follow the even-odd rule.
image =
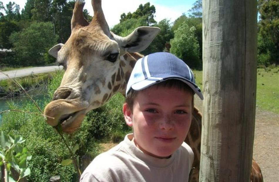
[[[1,0],[3,5],[11,2],[15,2],[24,8],[26,0]],[[193,7],[196,0],[102,0],[102,9],[105,14],[105,18],[109,27],[113,27],[119,23],[120,15],[122,13],[133,13],[139,7],[140,4],[144,5],[150,2],[150,6],[154,5],[156,9],[155,20],[157,22],[164,18],[175,21],[182,13],[188,13],[188,10]],[[91,0],[85,0],[85,9],[89,11],[90,16],[93,16],[93,8],[91,6]],[[21,11],[20,11],[21,12]]]

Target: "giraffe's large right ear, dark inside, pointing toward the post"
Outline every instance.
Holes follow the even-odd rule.
[[[149,46],[160,30],[158,27],[138,27],[127,37],[113,36],[125,51],[139,52]]]

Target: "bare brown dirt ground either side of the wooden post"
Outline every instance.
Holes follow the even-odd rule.
[[[200,110],[202,102],[195,98]],[[279,114],[256,108],[253,158],[259,164],[265,182],[279,181]]]

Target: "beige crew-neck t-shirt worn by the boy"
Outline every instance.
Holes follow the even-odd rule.
[[[168,159],[143,153],[128,134],[117,146],[104,152],[89,164],[80,182],[188,181],[194,160],[192,149],[185,142]]]

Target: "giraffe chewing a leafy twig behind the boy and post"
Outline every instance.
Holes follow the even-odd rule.
[[[53,117],[47,118],[49,125],[61,123],[66,133],[75,131],[88,111],[104,105],[115,93],[125,95],[135,62],[143,57],[137,52],[144,50],[160,30],[139,27],[122,38],[110,32],[101,0],[92,0],[94,17],[90,23],[83,17],[84,4],[82,0],[75,2],[72,32],[65,45],[55,45],[49,51],[64,66],[65,73],[44,114]],[[185,142],[194,152],[189,181],[195,182],[199,180],[201,147],[201,113],[197,108]],[[254,160],[252,164],[251,181],[257,182],[260,168]]]

